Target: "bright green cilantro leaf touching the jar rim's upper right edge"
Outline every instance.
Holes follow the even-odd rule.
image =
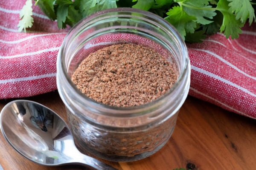
[[[165,19],[175,26],[183,40],[185,40],[186,32],[194,33],[196,17],[188,15],[180,6],[174,6],[166,14],[168,16]]]

